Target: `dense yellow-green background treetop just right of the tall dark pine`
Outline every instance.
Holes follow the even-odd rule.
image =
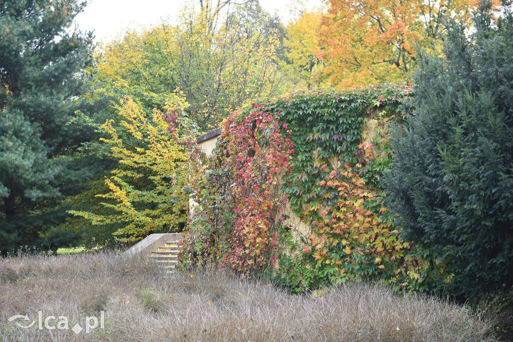
[[[102,55],[94,79],[96,98],[117,101],[130,96],[146,109],[163,110],[169,92],[180,86],[176,28],[171,25],[127,31],[122,38],[101,43],[98,50]]]

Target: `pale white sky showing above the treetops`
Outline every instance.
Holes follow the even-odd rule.
[[[307,8],[320,4],[321,0],[303,0]],[[270,13],[278,13],[288,23],[291,6],[298,0],[260,0],[260,5]],[[127,27],[150,27],[162,19],[176,18],[182,0],[89,0],[84,12],[76,16],[81,31],[92,31],[96,41],[109,41]]]

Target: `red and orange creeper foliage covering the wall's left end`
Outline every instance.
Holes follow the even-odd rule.
[[[200,176],[194,184],[199,190],[194,200],[199,205],[192,209],[192,229],[187,233],[186,244],[196,258],[191,260],[195,264],[212,263],[243,274],[260,273],[275,266],[284,228],[279,213],[286,201],[279,187],[281,177],[290,169],[294,151],[287,124],[280,123],[276,116],[254,104],[246,116],[234,113],[224,124],[219,155],[210,161],[207,176]],[[212,178],[212,174],[216,177]],[[227,179],[229,190],[220,191],[220,184]],[[220,198],[225,205],[212,204]],[[221,227],[215,225],[219,211],[234,213],[231,219],[221,222]],[[213,241],[211,234],[216,234]],[[199,245],[201,241],[197,239],[205,236],[206,245],[219,247],[209,251]]]

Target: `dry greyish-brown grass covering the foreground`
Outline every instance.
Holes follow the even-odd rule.
[[[8,323],[38,310],[81,326],[103,310],[106,326],[75,335]],[[380,286],[289,295],[218,273],[166,275],[114,252],[0,258],[0,341],[478,341],[491,328],[462,307]]]

